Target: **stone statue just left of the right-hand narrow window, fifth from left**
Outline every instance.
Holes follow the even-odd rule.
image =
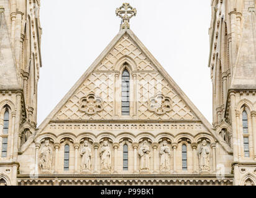
[[[160,148],[160,171],[168,172],[170,171],[170,156],[171,150],[167,145],[167,141],[163,141],[163,145]]]

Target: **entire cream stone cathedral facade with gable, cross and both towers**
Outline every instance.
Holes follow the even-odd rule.
[[[0,0],[0,185],[256,185],[255,0],[211,7],[213,124],[124,3],[120,32],[37,126],[40,0]]]

